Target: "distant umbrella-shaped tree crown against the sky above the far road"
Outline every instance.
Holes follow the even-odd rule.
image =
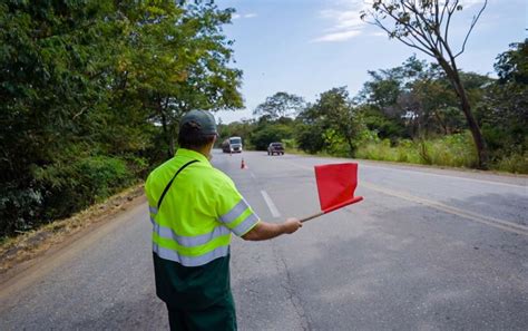
[[[253,115],[268,115],[275,119],[281,116],[296,115],[304,108],[304,99],[296,95],[291,95],[284,91],[278,91],[258,106],[256,106]]]

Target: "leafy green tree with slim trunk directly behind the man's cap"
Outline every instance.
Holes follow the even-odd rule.
[[[242,71],[231,68],[232,41],[222,33],[232,9],[212,1],[138,4],[127,12],[130,52],[119,76],[127,91],[160,124],[167,156],[175,152],[179,118],[192,109],[237,109]]]

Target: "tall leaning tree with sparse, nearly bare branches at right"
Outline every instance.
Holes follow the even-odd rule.
[[[383,29],[389,38],[415,48],[433,57],[444,70],[459,98],[460,107],[466,116],[468,127],[473,137],[479,158],[479,167],[486,168],[488,154],[480,127],[475,118],[466,88],[460,78],[456,59],[463,53],[473,27],[487,6],[485,0],[473,17],[460,50],[453,50],[449,41],[449,29],[452,16],[462,10],[459,0],[374,0],[372,9],[361,13],[361,19]],[[369,19],[372,19],[370,21]],[[390,23],[385,23],[390,21]]]

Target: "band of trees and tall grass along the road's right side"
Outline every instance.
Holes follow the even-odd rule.
[[[526,41],[516,42],[496,59],[498,79],[460,71],[487,143],[487,169],[528,174],[527,59]],[[222,136],[242,136],[256,150],[283,142],[286,152],[481,168],[441,68],[412,56],[369,75],[355,96],[339,87],[307,104],[277,93],[256,107],[257,118],[221,125]]]

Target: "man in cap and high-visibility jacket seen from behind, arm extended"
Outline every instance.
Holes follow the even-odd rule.
[[[187,113],[176,156],[151,172],[145,185],[156,293],[167,304],[170,330],[236,330],[231,233],[262,241],[302,226],[297,218],[280,224],[258,218],[233,181],[211,165],[216,137],[211,113]]]

